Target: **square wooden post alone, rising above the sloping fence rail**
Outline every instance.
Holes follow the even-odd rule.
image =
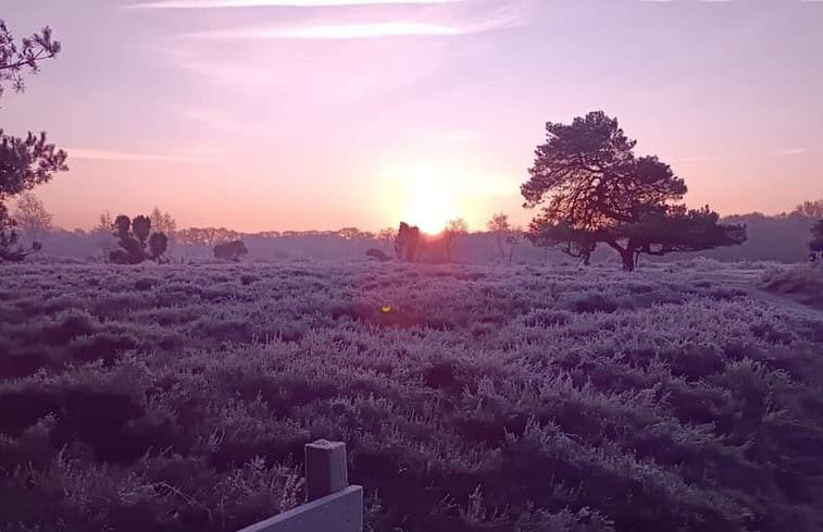
[[[349,486],[346,444],[317,440],[305,446],[305,495],[311,503]]]

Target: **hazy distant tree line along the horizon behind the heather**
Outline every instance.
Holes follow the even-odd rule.
[[[30,193],[28,195],[30,196]],[[38,207],[33,209],[26,207],[25,210],[32,211],[32,215],[24,215],[22,213],[24,210],[22,208],[24,197],[25,195],[21,195],[17,198],[16,209],[14,202],[10,205],[13,218],[20,221],[17,230],[21,242],[46,240],[43,248],[52,256],[77,258],[98,256],[103,257],[105,260],[109,260],[111,251],[122,249],[119,238],[114,235],[113,224],[115,216],[113,214],[101,214],[97,226],[89,231],[79,228],[67,231],[53,226],[51,216],[45,210],[42,201],[36,197],[27,199],[25,205]],[[38,213],[38,211],[40,212]],[[177,224],[174,223],[171,214],[159,211],[163,219],[172,222],[171,230],[167,224],[157,222],[159,219],[157,215],[158,211],[159,209],[157,208],[154,211],[150,211],[148,218],[151,221],[152,232],[165,233],[169,237],[167,250],[162,256],[161,261],[171,260],[170,257],[180,260],[194,257],[213,257],[214,247],[217,244],[234,242],[228,239],[214,245],[186,244],[180,242],[180,231],[174,228]],[[502,219],[501,215],[503,216]],[[735,215],[726,218],[722,222],[747,225],[748,239],[740,246],[672,253],[649,260],[669,261],[708,257],[725,261],[774,260],[780,262],[801,262],[808,260],[810,257],[810,244],[813,238],[811,230],[816,220],[801,215],[796,211],[770,216],[759,213]],[[239,232],[235,233],[241,234]],[[398,259],[395,250],[395,238],[398,231],[395,228],[375,232],[374,238],[344,239],[337,233],[337,231],[242,233],[242,237],[238,239],[247,247],[249,251],[247,256],[255,258],[356,259],[364,257],[363,253],[369,251],[366,257],[374,260],[388,261]],[[506,214],[496,213],[486,224],[485,231],[471,232],[457,237],[451,260],[460,262],[518,261],[534,264],[568,261],[568,259],[563,258],[564,253],[556,247],[535,246],[527,238],[527,235],[526,232],[508,222]],[[446,261],[445,244],[441,239],[438,239],[437,235],[433,237],[423,234],[421,238],[424,240],[424,244],[415,251],[414,261]],[[591,262],[613,260],[610,251],[611,248],[608,247],[597,249],[591,255]],[[616,253],[614,255],[616,256]],[[819,256],[818,260],[820,260]]]

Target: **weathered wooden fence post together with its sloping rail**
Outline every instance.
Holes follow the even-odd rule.
[[[239,532],[363,532],[363,487],[350,486],[346,444],[305,446],[307,504]]]

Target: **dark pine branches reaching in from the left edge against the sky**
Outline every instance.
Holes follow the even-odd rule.
[[[52,39],[48,27],[17,44],[0,20],[0,98],[4,83],[22,91],[25,88],[23,74],[36,73],[40,61],[58,52],[60,42]],[[45,133],[14,137],[0,129],[0,261],[23,260],[41,247],[39,243],[34,243],[29,249],[22,247],[5,200],[48,182],[57,172],[67,171],[66,158],[65,151],[46,141]]]

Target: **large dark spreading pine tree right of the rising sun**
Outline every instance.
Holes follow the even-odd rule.
[[[698,251],[741,244],[746,227],[721,225],[707,208],[676,202],[686,184],[657,157],[635,157],[616,119],[603,112],[572,124],[549,122],[537,147],[531,178],[521,186],[524,207],[545,205],[529,227],[536,245],[589,262],[598,244],[618,251],[627,271],[641,253]]]

